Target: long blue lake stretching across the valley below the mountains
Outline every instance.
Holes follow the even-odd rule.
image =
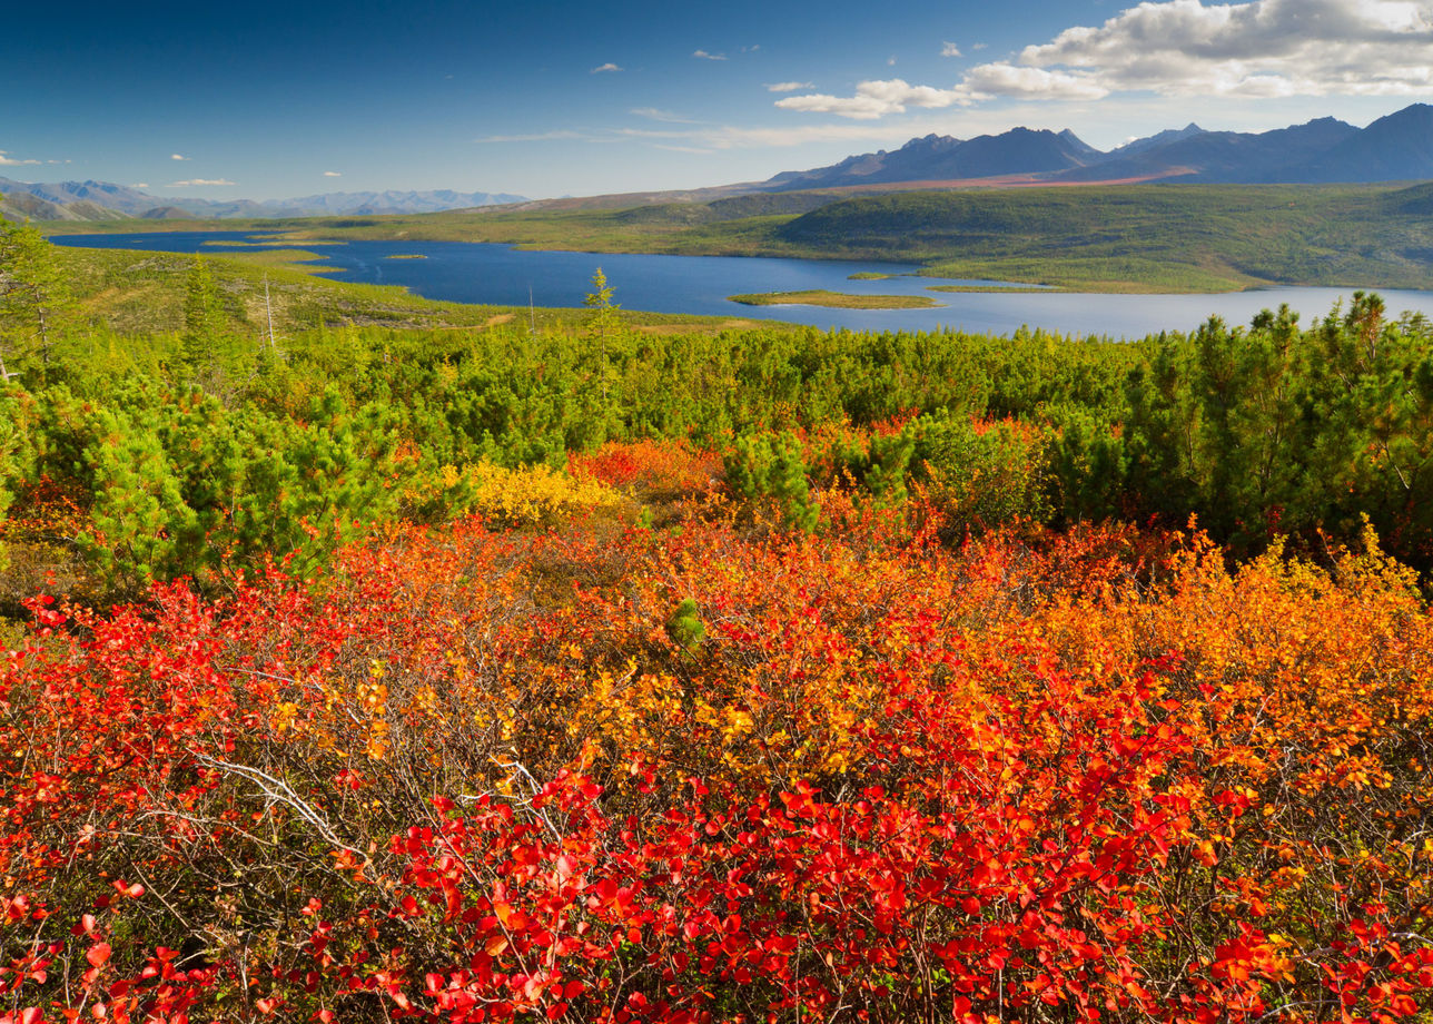
[[[60,245],[150,250],[160,252],[239,251],[234,242],[264,240],[248,231],[153,232],[123,235],[56,235]],[[209,242],[209,244],[206,244]],[[215,244],[218,242],[218,244]],[[224,242],[229,242],[225,247]],[[272,248],[302,248],[302,242],[274,242]],[[265,248],[268,248],[265,245]],[[350,241],[314,247],[327,274],[365,284],[397,284],[427,298],[493,305],[582,305],[592,274],[602,267],[616,288],[615,301],[628,310],[692,313],[752,320],[785,320],[853,330],[939,330],[1009,334],[1022,324],[1062,334],[1144,337],[1161,330],[1191,331],[1211,316],[1247,324],[1260,310],[1280,303],[1303,314],[1308,324],[1328,313],[1353,288],[1264,288],[1219,295],[1103,295],[1086,293],[937,293],[931,284],[989,284],[907,277],[907,264],[835,260],[772,260],[764,257],[674,257],[598,252],[524,251],[479,242]],[[423,260],[393,260],[421,255]],[[880,281],[851,281],[858,271],[900,274]],[[854,294],[930,295],[939,307],[924,310],[830,310],[804,305],[741,305],[727,295],[755,291],[827,288]],[[1416,310],[1433,317],[1433,291],[1379,290],[1390,314]]]

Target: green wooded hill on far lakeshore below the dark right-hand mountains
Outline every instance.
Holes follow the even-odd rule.
[[[1433,287],[1429,185],[904,192],[834,202],[774,234],[953,277],[1099,290]]]

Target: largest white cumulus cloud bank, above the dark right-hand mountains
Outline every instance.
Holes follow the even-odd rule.
[[[941,53],[959,50],[946,43]],[[1429,54],[1429,0],[1145,0],[1098,27],[1070,27],[1012,60],[977,65],[949,89],[861,82],[853,96],[788,96],[777,106],[873,119],[909,106],[1138,92],[1417,96],[1433,90]]]

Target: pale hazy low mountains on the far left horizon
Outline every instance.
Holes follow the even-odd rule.
[[[342,217],[374,214],[436,214],[509,202],[524,196],[493,192],[325,192],[297,199],[160,198],[128,185],[102,181],[29,184],[0,178],[0,214],[34,221],[195,219],[226,217]]]

